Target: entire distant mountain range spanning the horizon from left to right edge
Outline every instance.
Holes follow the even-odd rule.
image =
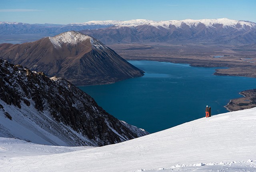
[[[162,42],[172,44],[255,44],[256,23],[243,20],[90,21],[67,25],[0,22],[0,35],[81,31],[104,44]]]

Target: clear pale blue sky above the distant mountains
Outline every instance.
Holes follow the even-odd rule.
[[[0,3],[2,22],[68,24],[188,18],[256,22],[256,0],[1,0]]]

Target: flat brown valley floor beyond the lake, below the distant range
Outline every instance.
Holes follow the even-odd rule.
[[[256,49],[254,46],[224,46],[203,44],[109,44],[126,60],[151,60],[186,63],[200,67],[227,67],[217,75],[256,78]]]

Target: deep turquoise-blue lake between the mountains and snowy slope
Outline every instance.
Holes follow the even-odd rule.
[[[83,86],[108,113],[150,133],[205,116],[228,112],[239,92],[256,88],[256,78],[215,76],[215,68],[168,62],[129,61],[145,76],[109,85]],[[210,130],[210,128],[209,128]]]

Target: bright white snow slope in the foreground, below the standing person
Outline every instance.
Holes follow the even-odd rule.
[[[0,138],[0,171],[253,172],[256,108],[200,118],[102,147],[40,146]]]

